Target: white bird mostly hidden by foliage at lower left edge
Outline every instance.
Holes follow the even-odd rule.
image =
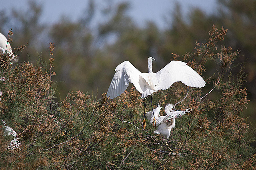
[[[10,141],[10,144],[8,145],[7,149],[18,148],[20,146],[20,142],[18,141],[19,138],[17,137],[17,133],[9,126],[6,126],[6,123],[4,120],[2,120],[2,122],[3,122],[4,135],[12,135],[12,137],[14,137],[14,139]]]

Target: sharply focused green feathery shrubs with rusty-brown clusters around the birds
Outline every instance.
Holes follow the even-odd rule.
[[[142,130],[143,101],[135,88],[116,100],[106,94],[98,100],[77,91],[57,102],[52,82],[54,44],[49,64],[39,57],[36,66],[12,65],[12,56],[1,55],[5,81],[0,82],[0,119],[18,133],[21,145],[6,149],[12,137],[1,128],[0,168],[255,169],[256,148],[250,146],[255,128],[249,128],[243,117],[248,101],[243,67],[238,75],[230,72],[239,52],[218,45],[226,33],[213,26],[208,41],[196,43],[194,52],[173,54],[173,59],[186,61],[203,77],[208,66],[216,67],[204,77],[210,88],[177,82],[154,94],[154,106],[173,103],[179,110],[192,109],[176,120],[168,140],[172,151],[161,135],[153,133],[154,127]]]

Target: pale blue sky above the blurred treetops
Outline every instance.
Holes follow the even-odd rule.
[[[43,23],[54,23],[60,20],[61,16],[68,16],[70,20],[77,20],[86,9],[88,0],[36,0],[43,5],[41,21]],[[154,21],[158,27],[166,26],[164,17],[170,16],[174,10],[175,2],[181,4],[184,16],[192,8],[200,8],[210,14],[216,9],[217,0],[111,0],[113,4],[118,2],[130,2],[131,8],[128,12],[130,16],[143,26],[145,21]],[[95,0],[96,6],[104,8],[106,2],[110,0]],[[10,12],[11,9],[26,10],[28,3],[25,0],[2,0],[0,10]],[[95,22],[101,21],[101,16],[96,15]]]

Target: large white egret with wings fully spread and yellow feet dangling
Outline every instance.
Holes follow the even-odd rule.
[[[129,83],[131,82],[136,90],[142,95],[144,99],[144,120],[143,127],[146,127],[145,113],[146,113],[146,101],[145,98],[151,95],[151,108],[154,116],[152,106],[152,94],[158,90],[166,90],[172,86],[174,82],[181,81],[190,87],[201,88],[205,86],[204,79],[187,63],[182,61],[171,61],[164,68],[156,73],[152,71],[153,58],[148,58],[148,73],[142,73],[135,68],[129,61],[124,61],[119,64],[115,71],[114,77],[108,88],[107,96],[113,99],[122,94]],[[155,124],[155,116],[153,122]]]

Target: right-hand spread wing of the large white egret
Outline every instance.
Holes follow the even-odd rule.
[[[164,68],[155,73],[159,84],[157,90],[166,90],[173,83],[181,81],[190,87],[204,87],[204,79],[190,66],[182,61],[171,61]]]

